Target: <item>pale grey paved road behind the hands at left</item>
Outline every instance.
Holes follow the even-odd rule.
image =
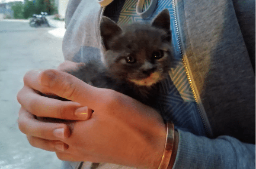
[[[0,21],[0,169],[58,169],[54,153],[32,147],[17,126],[16,94],[31,69],[56,68],[64,59],[54,28]]]

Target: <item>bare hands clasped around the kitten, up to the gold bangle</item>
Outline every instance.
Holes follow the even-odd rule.
[[[39,92],[71,101],[43,97]],[[153,108],[133,98],[90,86],[65,72],[46,70],[29,71],[17,99],[22,105],[19,129],[29,143],[55,151],[61,160],[149,169],[160,163],[166,138],[163,120]],[[34,115],[84,121],[45,123]]]

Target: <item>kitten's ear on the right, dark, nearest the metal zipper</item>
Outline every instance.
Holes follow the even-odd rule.
[[[163,9],[163,11],[160,12],[156,16],[156,18],[153,19],[151,25],[155,28],[160,28],[165,30],[169,36],[167,40],[168,41],[171,40],[171,30],[170,30],[171,20],[170,20],[170,13],[168,9]]]

